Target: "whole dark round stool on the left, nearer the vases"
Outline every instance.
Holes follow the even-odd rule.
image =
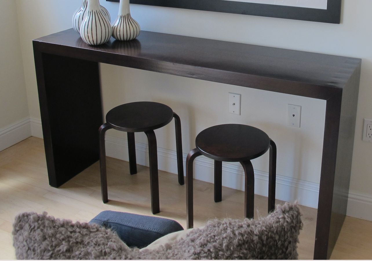
[[[157,102],[132,102],[119,105],[106,114],[106,123],[99,128],[100,140],[100,169],[102,201],[108,202],[107,177],[106,177],[106,152],[105,132],[108,129],[127,132],[129,151],[129,170],[131,174],[137,173],[135,132],[145,132],[148,139],[148,154],[150,160],[150,188],[151,188],[151,211],[159,213],[159,181],[158,181],[158,153],[155,129],[161,128],[174,118],[176,125],[176,150],[178,182],[183,185],[183,158],[181,120],[173,110]]]

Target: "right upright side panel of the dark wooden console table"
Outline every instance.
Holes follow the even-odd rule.
[[[332,124],[337,125],[331,126],[333,128],[332,131],[326,132],[326,128],[324,130],[324,149],[314,259],[330,258],[346,216],[359,92],[360,61],[355,67],[356,69],[342,90],[342,97],[341,94],[337,94],[332,99],[327,100],[325,127],[327,123],[328,126]],[[337,141],[334,141],[335,133],[338,133]],[[333,148],[331,150],[325,148],[328,144],[332,144]],[[336,148],[334,144],[337,144]],[[332,162],[332,166],[334,167],[330,170],[330,167],[327,167],[329,162],[324,159],[329,157],[327,155],[332,154],[331,151],[334,150],[337,150],[337,155],[334,163]],[[323,173],[329,173],[328,171],[333,171],[334,174],[327,175],[327,177],[323,175]],[[333,190],[330,188],[333,188]],[[325,200],[325,198],[328,200]],[[326,209],[328,213],[325,215],[323,212]],[[324,219],[325,216],[326,219]],[[322,223],[328,225],[324,227]],[[324,228],[329,232],[322,232]],[[327,237],[321,238],[322,235],[325,236],[326,234]],[[319,244],[320,242],[321,244]],[[326,253],[318,255],[318,249],[324,249]]]

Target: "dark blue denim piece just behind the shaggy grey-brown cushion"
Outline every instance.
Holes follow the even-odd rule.
[[[111,210],[102,211],[89,223],[112,229],[126,245],[138,248],[148,246],[164,235],[183,230],[178,222],[171,219]]]

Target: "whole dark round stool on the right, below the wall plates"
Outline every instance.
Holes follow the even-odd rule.
[[[254,216],[254,170],[250,160],[270,149],[268,212],[275,208],[276,145],[260,129],[242,124],[209,127],[196,136],[196,148],[186,158],[187,228],[193,228],[193,161],[204,155],[214,160],[214,201],[222,200],[222,161],[240,162],[245,174],[244,213]]]

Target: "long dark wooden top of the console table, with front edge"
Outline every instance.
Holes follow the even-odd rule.
[[[264,78],[296,81],[299,86],[311,89],[308,92],[302,90],[301,96],[320,99],[326,98],[324,95],[317,97],[312,92],[327,90],[324,87],[343,88],[361,61],[358,58],[143,30],[135,40],[120,42],[111,38],[100,46],[87,45],[73,29],[33,42],[47,53],[298,95],[294,90],[284,90],[285,83],[282,87],[264,86]],[[122,56],[126,56],[125,59]],[[270,83],[274,84],[266,81],[266,85]],[[275,81],[274,85],[277,83]],[[323,88],[318,89],[320,86]]]

